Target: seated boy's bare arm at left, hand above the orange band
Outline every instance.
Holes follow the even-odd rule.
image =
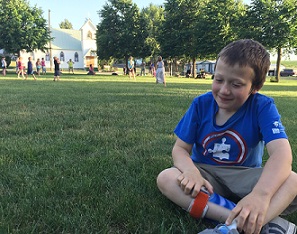
[[[172,149],[173,163],[181,171],[181,174],[177,177],[177,182],[185,194],[191,194],[192,197],[197,196],[202,186],[206,187],[210,193],[213,193],[211,184],[201,176],[190,157],[192,147],[193,145],[179,138],[175,142]]]

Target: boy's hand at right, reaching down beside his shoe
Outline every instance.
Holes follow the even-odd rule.
[[[269,199],[250,193],[242,198],[231,211],[226,224],[230,225],[236,219],[237,228],[240,231],[246,234],[260,233],[269,203]]]

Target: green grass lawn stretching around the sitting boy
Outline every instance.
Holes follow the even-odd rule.
[[[173,129],[211,80],[52,74],[0,77],[0,233],[197,233],[156,176]],[[297,153],[297,81],[267,82]],[[294,170],[297,169],[296,162]],[[297,223],[297,216],[291,215]]]

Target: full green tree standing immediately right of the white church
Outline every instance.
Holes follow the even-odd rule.
[[[97,54],[100,59],[125,58],[143,53],[147,34],[140,24],[140,13],[132,0],[109,0],[99,12]]]

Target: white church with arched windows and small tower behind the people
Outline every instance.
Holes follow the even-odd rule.
[[[42,52],[21,51],[20,56],[26,63],[28,57],[32,57],[33,64],[39,58],[44,58],[46,68],[53,69],[53,57],[60,59],[60,68],[68,69],[67,62],[71,59],[74,62],[74,69],[84,69],[93,64],[97,64],[97,45],[96,45],[96,26],[90,19],[87,19],[79,30],[51,28],[51,37],[53,40],[49,43],[49,50]]]

